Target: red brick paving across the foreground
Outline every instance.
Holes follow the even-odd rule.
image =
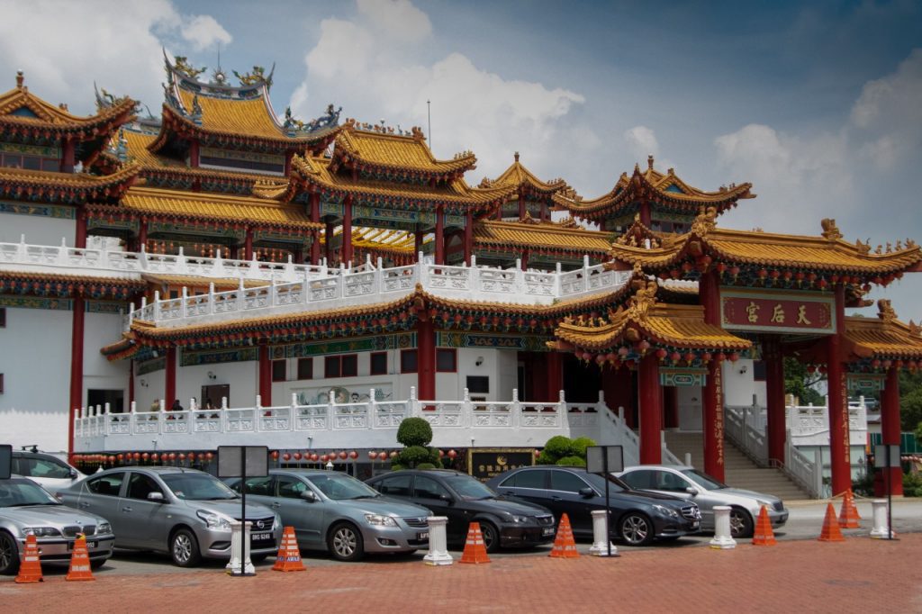
[[[11,613],[406,611],[491,612],[922,612],[922,534],[898,541],[848,537],[736,549],[669,548],[621,558],[550,559],[523,554],[490,564],[433,568],[422,561],[266,569],[253,578],[218,570],[96,573],[96,582],[0,580]],[[113,561],[112,564],[117,564]]]

